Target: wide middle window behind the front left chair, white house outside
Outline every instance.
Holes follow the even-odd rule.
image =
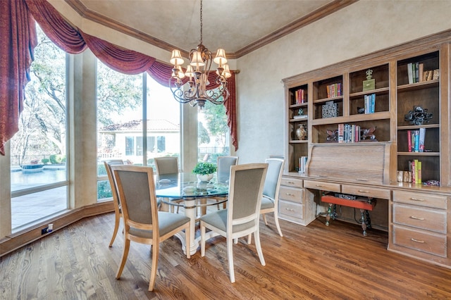
[[[154,167],[156,156],[180,156],[180,104],[149,75],[97,61],[97,199],[111,197],[104,161]]]

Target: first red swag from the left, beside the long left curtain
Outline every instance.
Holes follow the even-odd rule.
[[[70,54],[79,54],[87,48],[80,32],[64,20],[46,0],[25,0],[42,31],[58,47]]]

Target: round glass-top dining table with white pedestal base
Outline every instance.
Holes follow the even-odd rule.
[[[186,239],[190,239],[190,253],[194,255],[199,247],[200,237],[195,237],[197,222],[197,208],[218,205],[227,201],[228,181],[218,182],[216,174],[208,182],[197,179],[193,173],[174,173],[158,175],[155,177],[156,196],[161,199],[161,211],[168,211],[169,206],[182,206],[185,215],[190,218],[190,237],[185,232],[178,232],[176,237],[182,242],[182,249],[186,251]],[[208,199],[221,197],[222,201],[208,201]],[[175,200],[182,200],[175,202]],[[214,232],[207,232],[207,235]],[[185,252],[186,253],[186,252]]]

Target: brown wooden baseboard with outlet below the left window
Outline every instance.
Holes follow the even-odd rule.
[[[29,227],[26,230],[15,232],[13,235],[8,235],[0,239],[0,257],[15,251],[20,247],[30,244],[31,242],[35,242],[37,239],[51,235],[52,232],[45,235],[42,235],[41,232],[41,230],[44,227],[47,227],[49,223],[53,223],[53,232],[55,232],[56,230],[60,230],[61,228],[75,223],[78,220],[82,220],[83,218],[87,218],[92,215],[100,215],[102,213],[110,213],[111,211],[114,211],[113,201],[99,202],[97,204],[66,211],[65,213],[57,215],[54,218],[45,220],[45,222]]]

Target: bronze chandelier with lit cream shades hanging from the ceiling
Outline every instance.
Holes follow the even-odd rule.
[[[216,68],[216,85],[218,87],[209,88],[211,61],[218,64],[218,68]],[[218,49],[213,58],[211,51],[202,44],[202,0],[200,1],[200,43],[196,49],[190,51],[190,64],[183,73],[181,65],[185,61],[178,49],[172,51],[170,62],[174,67],[169,87],[175,100],[183,104],[189,103],[191,106],[199,105],[200,108],[204,107],[206,101],[210,101],[212,104],[223,104],[227,101],[230,96],[227,89],[227,78],[232,74],[227,64],[226,51]],[[189,80],[184,84],[183,78],[185,77],[189,77]]]

